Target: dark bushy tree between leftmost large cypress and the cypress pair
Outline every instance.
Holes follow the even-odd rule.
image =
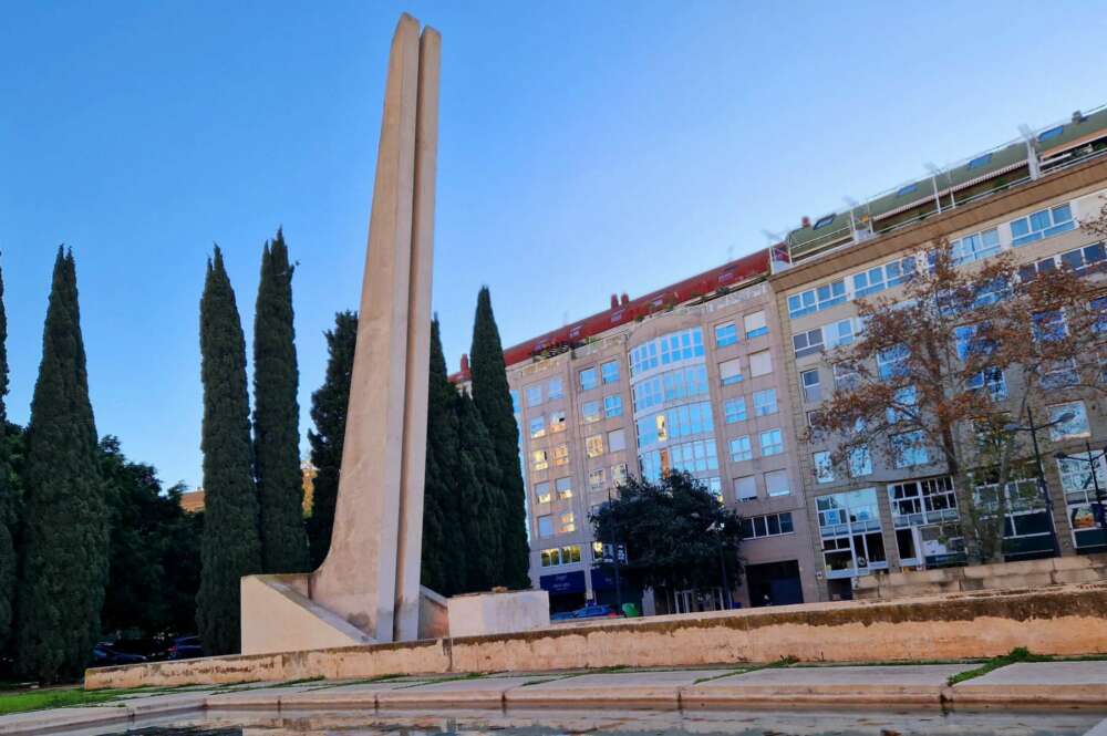
[[[199,527],[180,508],[182,488],[163,493],[154,467],[128,460],[112,435],[101,440],[100,458],[111,515],[104,631],[132,636],[192,631]]]

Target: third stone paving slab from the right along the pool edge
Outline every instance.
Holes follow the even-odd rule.
[[[694,685],[700,680],[733,672],[734,670],[682,670],[577,675],[515,687],[504,694],[504,699],[508,705],[625,703],[676,707],[682,688]]]

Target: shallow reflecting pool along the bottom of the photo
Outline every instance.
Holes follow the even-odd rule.
[[[219,712],[75,732],[81,736],[361,736],[467,734],[497,736],[1083,736],[1107,714],[1086,711],[863,712],[794,711],[372,711]]]

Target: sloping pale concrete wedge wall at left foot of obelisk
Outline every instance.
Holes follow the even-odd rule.
[[[241,580],[242,654],[356,646],[373,640],[308,598],[307,574]]]

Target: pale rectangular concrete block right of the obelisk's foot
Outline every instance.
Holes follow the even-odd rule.
[[[449,599],[451,636],[506,634],[549,625],[550,597],[545,590],[470,593]]]

